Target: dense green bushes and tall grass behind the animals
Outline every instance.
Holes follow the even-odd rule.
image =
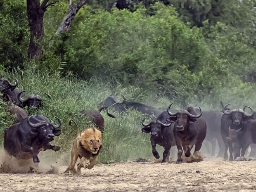
[[[131,1],[129,9],[110,12],[104,3],[84,5],[59,35],[68,3],[49,6],[42,55],[30,59],[26,2],[0,0],[0,75],[19,79],[19,90],[52,96],[43,109],[29,112],[62,119],[63,134],[55,142],[63,149],[76,135],[68,119],[82,129],[88,121],[77,112],[97,109],[110,94],[159,109],[170,102],[220,109],[219,100],[256,107],[255,0]],[[0,102],[2,131],[12,121]],[[140,133],[143,115],[114,114],[114,120],[104,114],[102,161],[137,157],[137,151],[152,156],[148,135]]]

